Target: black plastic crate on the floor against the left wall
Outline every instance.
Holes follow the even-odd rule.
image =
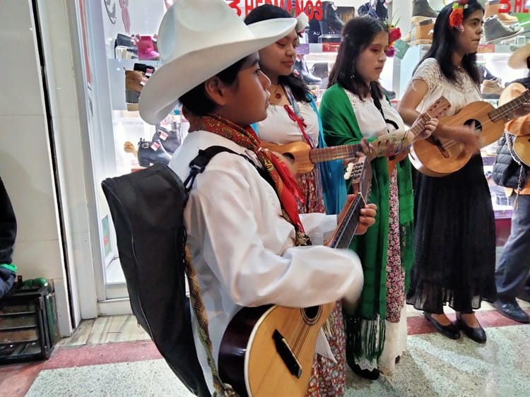
[[[1,305],[0,364],[48,359],[58,338],[54,292],[20,288]]]

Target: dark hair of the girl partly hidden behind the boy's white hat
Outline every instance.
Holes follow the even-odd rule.
[[[259,22],[260,20],[276,19],[276,18],[292,18],[290,13],[285,11],[283,8],[273,6],[272,4],[263,4],[262,6],[254,8],[249,12],[245,23],[250,25],[251,23]],[[294,73],[290,73],[289,76],[278,76],[278,83],[287,85],[291,91],[295,100],[311,102],[312,93],[307,85],[302,81],[301,78],[296,76]]]

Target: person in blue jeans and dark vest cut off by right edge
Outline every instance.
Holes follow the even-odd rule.
[[[517,49],[508,59],[512,69],[528,69],[529,76],[512,81],[502,91],[499,105],[519,97],[530,88],[530,45]],[[521,323],[530,322],[529,315],[519,306],[517,297],[530,295],[530,169],[523,162],[514,167],[512,146],[514,136],[530,135],[530,103],[517,109],[505,124],[505,134],[499,140],[493,178],[506,187],[507,196],[517,196],[512,213],[512,227],[495,269],[497,300],[493,306],[500,314]],[[514,190],[515,189],[515,190]]]

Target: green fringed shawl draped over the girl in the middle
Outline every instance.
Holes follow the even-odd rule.
[[[348,95],[339,85],[332,85],[319,107],[328,146],[359,143],[359,129]],[[384,319],[387,316],[387,249],[389,235],[389,172],[387,158],[372,160],[372,188],[369,201],[377,204],[375,225],[365,235],[355,236],[350,249],[363,265],[365,283],[355,316],[344,314],[348,362],[355,357],[378,358],[384,345]],[[413,190],[411,163],[405,159],[396,165],[399,189],[399,230],[401,265],[406,271],[406,290],[413,262]],[[377,336],[379,333],[379,336]]]

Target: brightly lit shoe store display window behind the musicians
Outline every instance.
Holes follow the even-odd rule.
[[[169,162],[170,156],[187,134],[186,120],[177,108],[158,126],[151,126],[139,117],[138,102],[143,85],[160,66],[156,32],[165,11],[174,1],[78,1],[88,7],[86,54],[90,54],[90,60],[87,58],[85,62],[86,69],[91,73],[87,75],[90,88],[88,107],[94,116],[90,150],[95,180],[99,183],[106,177],[134,172],[153,162]],[[258,3],[261,4],[257,1],[227,2],[242,17]],[[293,13],[301,10],[300,1],[278,0],[272,3],[288,7]],[[366,5],[370,6],[370,2],[311,2],[322,5],[325,9],[317,9],[317,6],[307,8],[309,3],[305,2],[303,9],[313,18],[310,18],[298,47],[295,71],[310,85],[318,103],[327,87],[329,72],[341,42],[341,23],[358,15],[360,11],[366,11]],[[404,36],[396,44],[396,57],[387,59],[381,76],[381,83],[394,105],[404,93],[413,69],[432,40],[432,25],[427,29],[425,23],[413,23],[413,2],[402,3],[399,3],[399,7],[395,0],[386,4],[388,16],[400,20]],[[443,6],[442,1],[430,1],[430,4],[436,9]],[[434,20],[431,22],[434,23]],[[494,106],[504,83],[522,77],[525,73],[510,70],[507,74],[506,66],[507,57],[524,41],[524,37],[516,36],[502,44],[483,44],[479,49],[478,62],[489,73],[487,77],[484,75],[489,82],[485,83],[488,86],[483,85],[483,97]],[[483,149],[486,175],[493,164],[494,146]],[[491,186],[497,218],[510,218],[510,201],[502,196],[502,189],[497,187],[493,184]],[[102,235],[100,246],[104,266],[102,283],[106,287],[103,299],[124,297],[124,276],[119,265],[112,220],[100,187],[96,188],[99,192],[98,222]]]

